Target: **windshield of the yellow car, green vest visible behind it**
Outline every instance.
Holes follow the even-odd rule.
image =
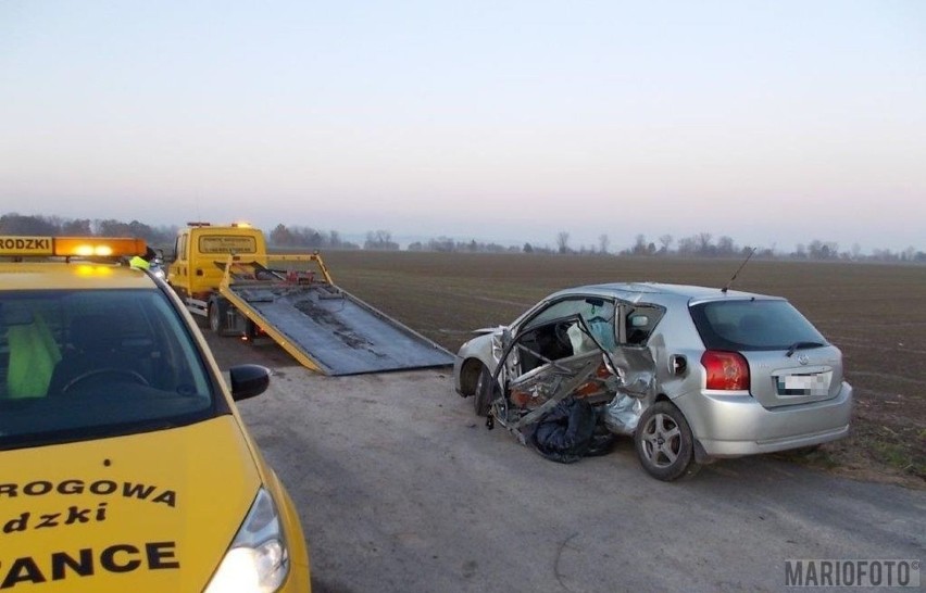
[[[209,377],[158,289],[0,292],[0,449],[224,413]]]

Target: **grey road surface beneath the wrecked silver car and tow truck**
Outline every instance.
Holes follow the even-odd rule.
[[[546,460],[452,392],[449,369],[328,378],[274,345],[239,407],[300,509],[318,592],[778,591],[787,559],[926,558],[926,493],[769,457],[663,483],[629,440]]]

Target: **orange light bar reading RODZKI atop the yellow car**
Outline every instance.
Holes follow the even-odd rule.
[[[113,237],[3,237],[0,256],[13,257],[122,257],[141,255],[143,239]]]

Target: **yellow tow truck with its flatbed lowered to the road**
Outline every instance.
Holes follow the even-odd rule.
[[[317,252],[270,253],[249,225],[188,223],[167,282],[212,331],[268,336],[326,375],[453,364],[450,352],[339,288]]]

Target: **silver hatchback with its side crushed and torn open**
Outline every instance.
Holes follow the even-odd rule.
[[[538,427],[555,417],[562,430],[542,434],[565,453],[558,460],[574,460],[606,429],[631,436],[643,469],[670,481],[717,458],[813,447],[849,432],[842,354],[781,298],[587,286],[478,331],[460,349],[454,389],[490,428],[525,444],[543,445]]]

